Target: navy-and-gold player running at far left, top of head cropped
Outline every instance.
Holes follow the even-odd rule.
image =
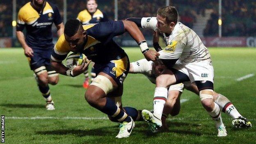
[[[64,31],[59,9],[46,0],[27,2],[18,12],[16,35],[34,71],[39,91],[46,100],[46,110],[55,110],[48,84],[56,85],[59,75],[50,66],[53,50],[52,25],[60,36]],[[26,28],[26,37],[23,29]]]

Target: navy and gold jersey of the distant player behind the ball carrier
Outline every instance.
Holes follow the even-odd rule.
[[[80,11],[76,19],[78,19],[82,25],[108,21],[106,14],[99,9],[97,9],[93,14],[90,14],[87,9]]]

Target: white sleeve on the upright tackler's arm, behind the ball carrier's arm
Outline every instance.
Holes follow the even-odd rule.
[[[143,17],[141,20],[141,25],[142,25],[142,28],[144,29],[151,29],[156,31],[157,30],[156,24],[157,24],[156,17]]]

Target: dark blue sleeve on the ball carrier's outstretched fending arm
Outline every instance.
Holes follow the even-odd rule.
[[[107,21],[96,24],[87,33],[102,43],[108,43],[113,37],[126,32],[122,21]]]

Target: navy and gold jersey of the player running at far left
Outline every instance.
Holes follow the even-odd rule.
[[[17,31],[26,28],[26,43],[31,48],[53,48],[52,25],[62,23],[57,6],[46,1],[38,13],[28,2],[18,12]]]

